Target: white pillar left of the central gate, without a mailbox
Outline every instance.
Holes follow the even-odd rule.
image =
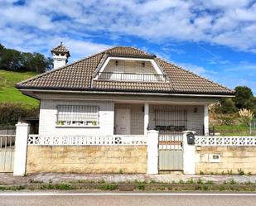
[[[158,174],[158,131],[147,132],[147,174]]]

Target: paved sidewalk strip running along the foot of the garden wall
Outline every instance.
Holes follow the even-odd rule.
[[[29,184],[31,181],[41,183],[59,184],[69,181],[102,181],[106,183],[128,183],[138,181],[150,182],[154,180],[159,183],[186,183],[193,179],[213,181],[215,184],[223,184],[225,181],[234,180],[237,184],[256,183],[256,175],[125,175],[125,174],[61,174],[61,173],[41,173],[36,175],[27,175],[24,177],[13,177],[12,173],[0,173],[0,184]]]

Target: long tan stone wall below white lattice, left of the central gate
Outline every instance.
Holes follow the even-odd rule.
[[[147,173],[147,146],[27,146],[27,174]]]

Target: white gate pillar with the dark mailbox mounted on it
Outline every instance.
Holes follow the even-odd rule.
[[[186,135],[188,132],[183,132],[182,150],[183,150],[183,173],[185,175],[196,174],[196,148],[195,145],[188,145]],[[195,134],[196,132],[192,132]]]

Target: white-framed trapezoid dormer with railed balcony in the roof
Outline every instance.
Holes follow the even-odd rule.
[[[108,57],[94,80],[167,82],[155,60],[141,58]]]

